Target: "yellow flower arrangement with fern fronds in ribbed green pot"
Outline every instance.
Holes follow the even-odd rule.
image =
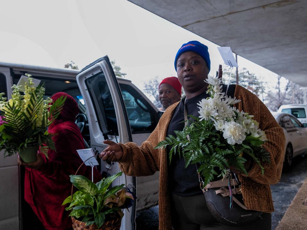
[[[9,101],[0,94],[0,150],[5,150],[4,157],[18,152],[25,163],[30,163],[36,160],[38,149],[47,158],[48,149],[55,149],[54,134],[47,129],[60,114],[66,98],[52,103],[51,98],[44,98],[45,88],[34,87],[31,75],[27,77],[23,93],[21,86],[14,85]]]

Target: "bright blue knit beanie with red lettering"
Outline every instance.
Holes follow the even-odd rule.
[[[193,51],[198,53],[207,63],[208,73],[210,72],[210,56],[208,52],[208,46],[201,44],[199,41],[189,41],[181,46],[178,50],[176,57],[175,57],[175,70],[177,71],[177,59],[179,56],[187,51]]]

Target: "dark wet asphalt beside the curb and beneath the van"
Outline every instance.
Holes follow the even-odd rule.
[[[280,181],[277,184],[271,185],[275,209],[275,212],[272,213],[272,230],[275,230],[275,228],[278,226],[295,195],[305,180],[307,180],[306,169],[307,155],[305,157],[298,156],[293,159],[292,168],[289,171],[282,172]],[[307,196],[307,194],[305,194],[305,196]],[[157,205],[149,209],[139,211],[136,216],[137,229],[157,230],[159,226],[158,210],[159,207]],[[278,229],[280,227],[281,226],[279,226]]]

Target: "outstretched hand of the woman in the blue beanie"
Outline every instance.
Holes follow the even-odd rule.
[[[108,147],[100,153],[99,158],[103,161],[117,161],[122,158],[123,151],[119,144],[111,140],[105,140],[103,143],[108,144]]]

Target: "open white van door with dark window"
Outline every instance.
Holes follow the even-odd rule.
[[[82,69],[77,75],[77,83],[84,99],[88,125],[90,127],[90,147],[99,154],[107,147],[106,139],[126,143],[132,141],[129,119],[119,84],[108,56],[104,56]],[[120,171],[118,163],[103,162],[98,169],[103,176],[113,175]],[[112,186],[126,184],[136,194],[134,177],[122,174]],[[124,210],[122,230],[135,229],[136,202]]]

